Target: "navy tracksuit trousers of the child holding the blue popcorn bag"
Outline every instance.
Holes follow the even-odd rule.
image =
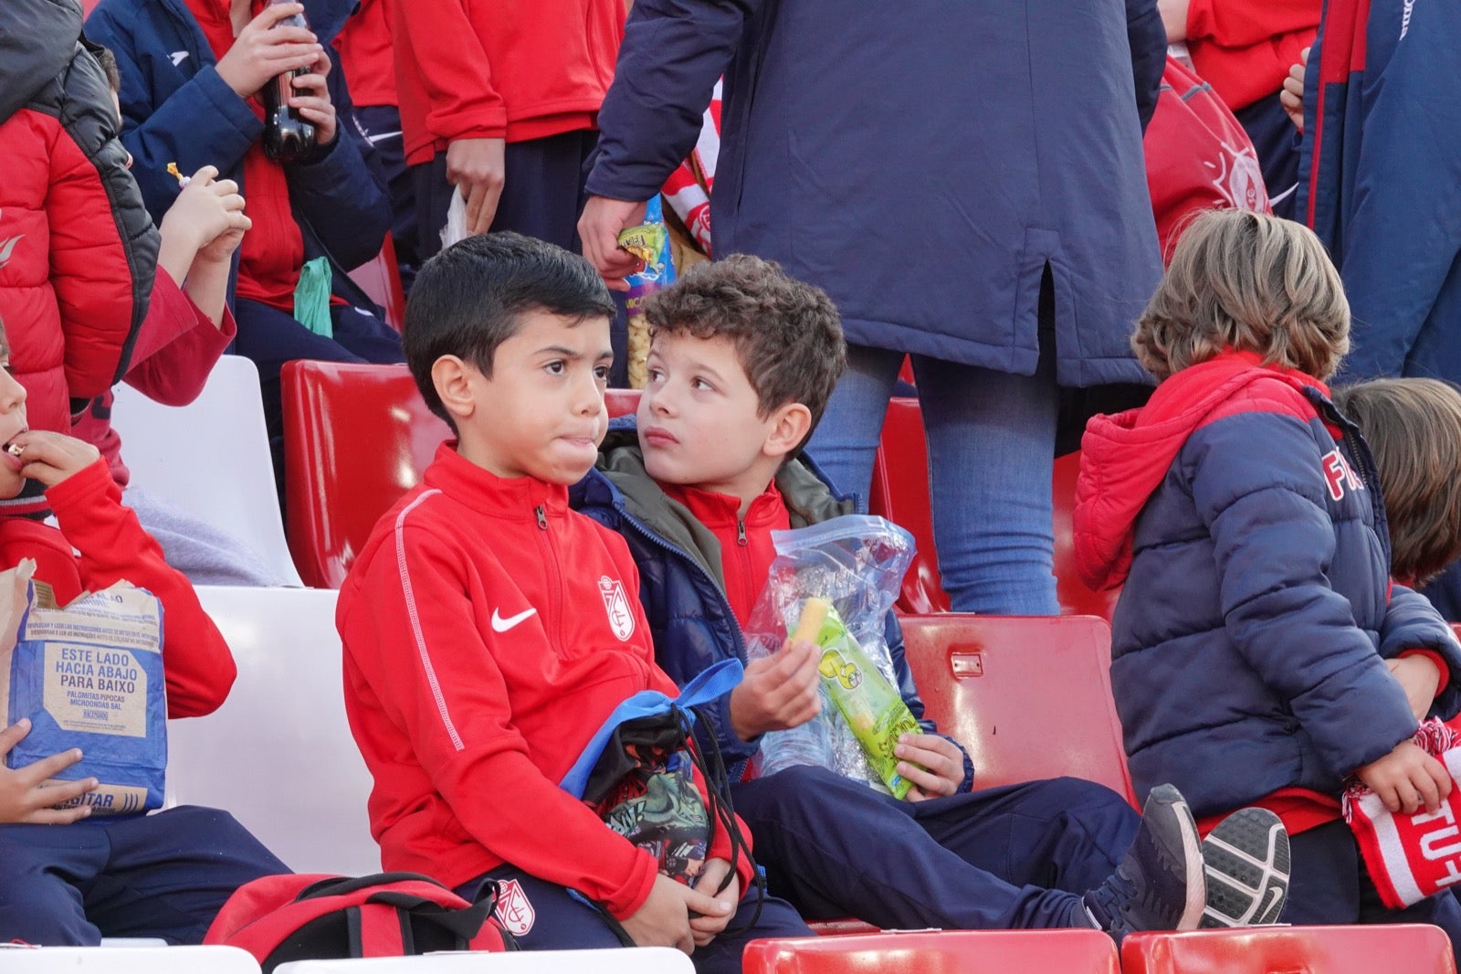
[[[0,825],[0,939],[202,943],[235,889],[289,867],[218,809]]]

